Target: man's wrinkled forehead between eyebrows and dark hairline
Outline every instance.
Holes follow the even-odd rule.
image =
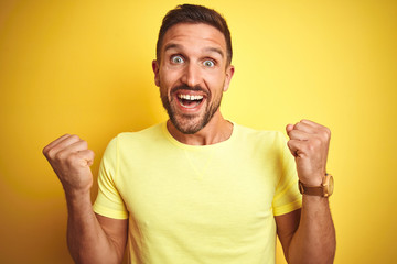
[[[164,34],[161,51],[173,45],[185,48],[214,47],[226,54],[226,40],[216,28],[207,24],[180,23],[171,26]]]

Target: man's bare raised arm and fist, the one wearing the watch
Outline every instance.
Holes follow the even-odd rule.
[[[302,120],[287,125],[287,133],[300,182],[307,186],[321,186],[325,177],[330,130]],[[304,194],[302,209],[276,217],[276,223],[288,263],[333,263],[336,242],[329,198]]]

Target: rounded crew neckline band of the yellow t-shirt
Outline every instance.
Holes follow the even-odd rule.
[[[172,134],[170,133],[170,131],[167,129],[167,121],[161,123],[161,130],[163,132],[163,134],[165,135],[165,138],[174,145],[176,145],[178,147],[181,147],[181,148],[187,148],[187,150],[210,150],[210,148],[217,148],[217,147],[222,147],[222,146],[225,146],[225,145],[228,145],[230,144],[235,138],[236,138],[236,133],[237,133],[237,124],[233,121],[229,121],[227,120],[228,122],[232,123],[233,125],[233,129],[232,129],[232,134],[227,139],[227,140],[224,140],[224,141],[221,141],[221,142],[217,142],[215,144],[210,144],[210,145],[189,145],[189,144],[185,144],[185,143],[182,143],[180,141],[178,141],[175,138],[172,136]]]

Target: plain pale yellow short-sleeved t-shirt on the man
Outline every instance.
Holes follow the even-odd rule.
[[[165,123],[116,136],[94,210],[129,219],[131,263],[275,263],[273,216],[301,207],[281,132],[234,124],[213,145],[186,145]]]

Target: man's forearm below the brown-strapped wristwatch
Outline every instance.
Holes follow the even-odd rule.
[[[300,224],[288,251],[289,263],[333,263],[335,246],[328,198],[303,195]]]

